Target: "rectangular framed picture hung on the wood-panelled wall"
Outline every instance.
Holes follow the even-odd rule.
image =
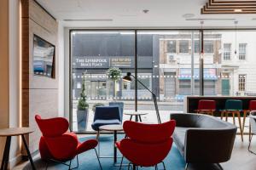
[[[33,72],[35,76],[55,78],[55,45],[33,36]]]

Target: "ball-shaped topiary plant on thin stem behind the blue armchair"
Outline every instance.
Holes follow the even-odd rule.
[[[113,81],[113,102],[109,102],[109,105],[112,106],[118,106],[119,107],[119,113],[120,113],[120,119],[122,122],[123,119],[123,110],[124,110],[124,102],[117,102],[117,90],[116,90],[116,83],[120,80],[122,77],[122,71],[119,68],[109,68],[107,71],[108,78]]]

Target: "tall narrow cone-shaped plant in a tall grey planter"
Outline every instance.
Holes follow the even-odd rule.
[[[77,111],[78,131],[84,131],[87,127],[88,113],[89,113],[88,108],[89,108],[89,104],[87,103],[87,96],[85,94],[85,77],[83,74],[82,91],[80,94],[78,111]]]

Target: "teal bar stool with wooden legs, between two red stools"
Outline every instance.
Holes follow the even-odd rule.
[[[241,132],[241,141],[243,141],[243,129],[241,127],[241,111],[242,111],[242,101],[240,99],[227,99],[225,102],[224,111],[221,111],[221,119],[223,116],[226,117],[225,121],[228,121],[229,114],[233,116],[233,124],[236,125],[235,116],[237,115],[239,128]]]

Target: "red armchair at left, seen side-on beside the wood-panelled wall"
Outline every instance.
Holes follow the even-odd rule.
[[[77,167],[79,167],[79,154],[91,149],[96,151],[95,148],[98,144],[96,139],[80,143],[75,133],[67,132],[69,126],[67,119],[62,117],[41,119],[41,116],[38,115],[35,116],[35,119],[43,134],[39,143],[39,152],[41,158],[47,162],[48,160],[58,161],[71,169],[71,161],[75,156],[77,156]],[[96,157],[102,169],[97,152]],[[65,161],[69,161],[69,164]]]

